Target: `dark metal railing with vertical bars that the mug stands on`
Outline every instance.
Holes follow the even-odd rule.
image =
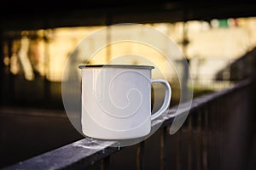
[[[110,141],[81,139],[5,169],[247,169],[252,87],[246,80],[193,99],[186,122],[172,135],[177,107],[139,144],[118,148]]]

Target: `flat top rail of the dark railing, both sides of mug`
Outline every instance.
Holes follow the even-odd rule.
[[[207,105],[208,102],[218,99],[220,96],[236,92],[240,88],[245,88],[251,81],[246,80],[234,85],[231,88],[224,89],[222,91],[207,94],[199,98],[193,99],[191,103],[191,111],[196,111],[201,106]],[[186,104],[183,104],[186,105]],[[183,105],[179,105],[182,107]],[[172,107],[167,111],[166,116],[161,116],[153,122],[154,125],[162,124],[162,126],[170,125],[173,121],[173,114],[177,112],[178,106]],[[188,111],[188,107],[184,107],[179,115]],[[96,161],[102,160],[104,157],[112,155],[118,151],[118,147],[112,147],[115,142],[113,141],[101,141],[96,139],[81,139],[72,144],[67,144],[56,150],[51,150],[42,155],[32,157],[26,161],[20,161],[19,163],[6,167],[6,170],[13,169],[65,169],[69,167],[87,167]]]

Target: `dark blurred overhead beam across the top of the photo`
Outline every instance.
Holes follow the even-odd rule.
[[[10,0],[9,3],[12,1],[15,2],[15,0]],[[3,10],[0,12],[2,31],[256,16],[256,2],[246,0],[237,3],[231,1],[214,1],[213,3],[186,0],[160,1],[159,3],[157,1],[142,3],[141,0],[131,0],[129,3],[120,3],[110,0],[109,3],[99,4],[85,4],[85,1],[74,0],[70,5],[64,1],[61,6],[58,6],[56,1],[53,2],[51,4],[49,0],[46,0],[42,6],[34,8],[26,5],[26,3],[20,4],[20,8],[15,6],[12,9],[5,5],[5,8],[9,8],[9,12],[5,13]]]

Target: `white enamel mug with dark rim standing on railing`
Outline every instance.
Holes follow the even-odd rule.
[[[153,66],[79,65],[82,70],[82,130],[94,139],[135,139],[148,135],[151,121],[168,108],[172,90],[163,79],[151,80]],[[151,114],[151,83],[160,82],[166,96]]]

